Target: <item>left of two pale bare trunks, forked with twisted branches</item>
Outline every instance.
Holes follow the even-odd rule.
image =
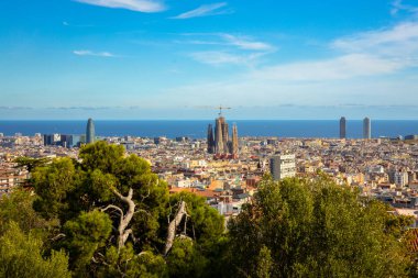
[[[127,243],[129,235],[132,234],[132,230],[127,229],[127,227],[130,224],[130,222],[133,218],[133,214],[135,213],[135,203],[132,200],[132,196],[133,196],[133,189],[132,188],[129,189],[129,193],[127,197],[122,196],[116,189],[113,189],[112,191],[123,203],[125,203],[128,205],[127,213],[123,213],[123,210],[121,208],[113,205],[113,204],[109,204],[108,207],[106,207],[102,210],[102,211],[106,211],[108,209],[116,209],[119,211],[119,214],[120,214],[119,226],[118,226],[118,233],[119,233],[118,252],[119,252],[120,248],[122,248],[124,246],[124,244]]]

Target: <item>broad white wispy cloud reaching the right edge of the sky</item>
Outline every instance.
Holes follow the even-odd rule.
[[[258,68],[251,77],[286,81],[329,81],[382,76],[418,66],[418,22],[334,40],[337,57]]]

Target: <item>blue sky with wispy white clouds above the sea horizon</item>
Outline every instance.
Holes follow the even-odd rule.
[[[418,1],[0,1],[0,119],[418,119]]]

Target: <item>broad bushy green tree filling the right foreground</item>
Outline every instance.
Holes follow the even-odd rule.
[[[254,202],[230,222],[235,268],[228,275],[405,277],[410,260],[389,219],[381,202],[323,177],[266,179]],[[260,260],[263,253],[271,259]]]

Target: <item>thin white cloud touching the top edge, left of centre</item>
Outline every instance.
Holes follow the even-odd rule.
[[[113,9],[127,9],[138,12],[161,12],[166,10],[163,2],[157,0],[74,0],[80,3],[100,5]]]

